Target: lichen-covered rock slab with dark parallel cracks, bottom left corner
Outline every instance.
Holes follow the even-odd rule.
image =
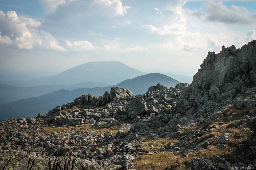
[[[12,150],[0,153],[0,169],[117,169],[115,165],[100,166],[97,162],[73,156],[40,156],[36,153]]]

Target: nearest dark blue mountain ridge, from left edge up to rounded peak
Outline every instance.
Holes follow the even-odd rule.
[[[145,94],[150,86],[157,83],[166,87],[175,86],[179,81],[159,73],[138,76],[133,79],[122,81],[115,87],[127,88],[133,94]],[[110,91],[112,86],[97,88],[79,88],[74,90],[59,90],[39,97],[23,99],[0,105],[0,120],[9,118],[34,117],[38,113],[46,114],[51,108],[64,103],[72,102],[82,94],[93,94],[100,96],[105,91]]]

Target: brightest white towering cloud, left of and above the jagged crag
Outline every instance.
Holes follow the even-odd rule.
[[[184,5],[184,2],[180,1],[180,4],[178,3],[178,5],[180,6],[177,6],[176,8],[173,8],[173,6],[168,8],[170,11],[173,11],[173,15],[168,16],[171,20],[168,24],[160,27],[153,25],[144,26],[150,30],[151,34],[158,34],[161,36],[169,35],[169,37],[171,37],[169,40],[166,40],[166,42],[151,45],[152,47],[156,47],[158,50],[163,51],[171,50],[173,55],[178,55],[181,52],[184,54],[187,52],[187,55],[189,55],[190,52],[219,52],[222,45],[231,46],[234,44],[240,47],[244,43],[256,38],[254,30],[251,30],[246,36],[243,36],[228,30],[226,27],[221,27],[221,29],[218,30],[218,33],[202,34],[198,25],[189,25],[187,19],[182,15],[182,6]],[[207,32],[205,29],[208,27],[203,27],[204,32]],[[212,29],[214,29],[214,27]]]

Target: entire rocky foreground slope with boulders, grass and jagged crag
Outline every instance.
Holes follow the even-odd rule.
[[[200,67],[190,85],[113,87],[0,121],[0,168],[256,168],[256,41],[209,52]]]

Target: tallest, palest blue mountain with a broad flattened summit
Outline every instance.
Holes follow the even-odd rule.
[[[99,82],[116,84],[126,79],[144,75],[145,73],[131,68],[118,61],[101,61],[85,63],[57,75],[37,79],[20,80],[5,84],[13,86],[42,86],[49,84],[78,84],[82,82]]]

